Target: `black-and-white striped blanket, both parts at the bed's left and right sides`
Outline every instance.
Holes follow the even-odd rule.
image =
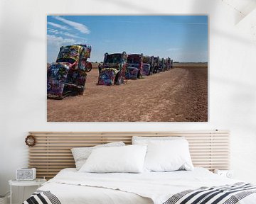
[[[256,186],[250,183],[235,183],[217,187],[201,187],[182,191],[171,196],[163,204],[235,204],[246,196],[256,193]],[[61,204],[50,191],[36,191],[23,204]],[[75,203],[74,203],[75,204]],[[250,204],[250,203],[248,203]]]

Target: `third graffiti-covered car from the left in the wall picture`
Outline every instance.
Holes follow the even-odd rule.
[[[132,54],[127,57],[126,79],[141,79],[143,68],[143,54]]]

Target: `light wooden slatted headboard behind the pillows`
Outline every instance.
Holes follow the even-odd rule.
[[[127,145],[132,136],[184,136],[189,142],[194,166],[210,171],[229,168],[229,132],[29,132],[36,137],[36,145],[29,147],[29,167],[37,169],[38,178],[53,178],[60,169],[75,167],[70,148],[91,147],[107,142],[123,141]]]

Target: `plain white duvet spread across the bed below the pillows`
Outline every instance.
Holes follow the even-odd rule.
[[[237,182],[239,181],[223,178],[203,168],[142,174],[92,174],[63,169],[39,189],[50,191],[62,204],[162,204],[181,191]],[[256,203],[256,193],[243,198],[240,203]]]

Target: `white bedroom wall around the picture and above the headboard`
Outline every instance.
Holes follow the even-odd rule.
[[[208,13],[209,122],[47,123],[46,15],[52,13]],[[256,46],[250,30],[235,26],[242,17],[217,0],[2,0],[0,194],[16,169],[28,164],[24,138],[31,130],[230,130],[235,178],[256,183]]]

